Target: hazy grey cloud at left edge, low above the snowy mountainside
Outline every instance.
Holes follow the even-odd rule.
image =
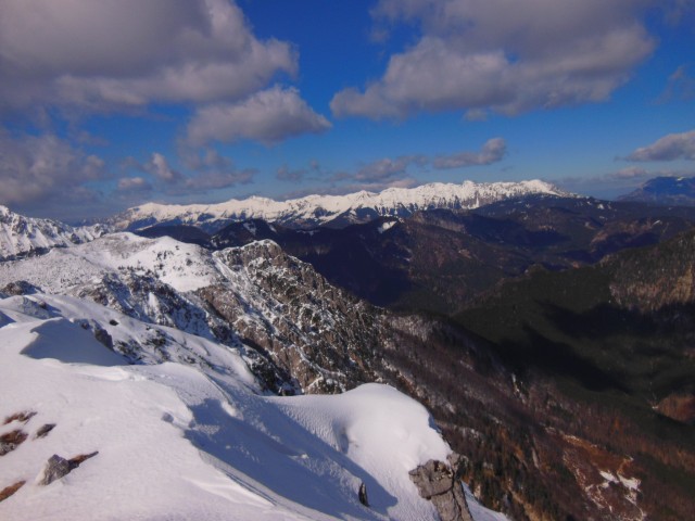
[[[59,137],[11,136],[0,129],[0,204],[20,208],[85,202],[98,198],[86,187],[108,176],[104,162]]]

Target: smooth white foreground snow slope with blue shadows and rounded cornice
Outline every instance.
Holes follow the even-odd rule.
[[[182,356],[127,365],[96,330]],[[187,351],[205,361],[185,363]],[[450,448],[421,405],[386,385],[265,396],[235,350],[35,294],[0,300],[0,491],[15,490],[0,519],[438,519],[408,470]],[[40,484],[52,455],[83,460]]]

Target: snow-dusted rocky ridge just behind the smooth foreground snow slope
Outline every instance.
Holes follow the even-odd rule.
[[[25,284],[15,288],[16,281]],[[7,284],[12,293],[87,298],[240,348],[276,392],[340,392],[375,379],[368,363],[379,313],[271,241],[213,253],[166,237],[112,233],[0,263],[0,288]],[[114,348],[141,361],[137,345]],[[155,361],[170,357],[160,353]]]

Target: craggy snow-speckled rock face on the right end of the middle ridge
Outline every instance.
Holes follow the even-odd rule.
[[[379,312],[329,284],[271,241],[216,252],[228,283],[198,296],[307,393],[374,381]]]

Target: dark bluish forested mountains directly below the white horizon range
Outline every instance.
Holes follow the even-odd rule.
[[[251,219],[219,230],[211,243],[224,249],[270,239],[372,304],[452,314],[533,266],[563,270],[593,264],[693,224],[692,207],[530,195],[341,229],[296,230]]]

